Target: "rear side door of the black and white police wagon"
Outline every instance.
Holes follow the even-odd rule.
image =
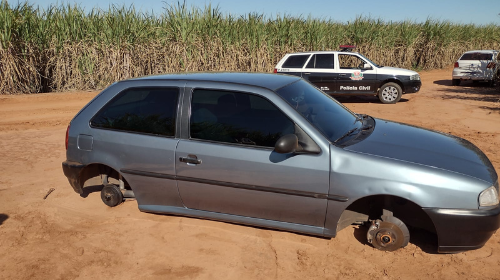
[[[304,67],[302,78],[326,93],[335,91],[337,72],[335,71],[335,54],[313,54]]]

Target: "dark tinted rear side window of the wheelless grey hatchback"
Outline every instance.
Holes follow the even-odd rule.
[[[174,136],[178,88],[128,89],[106,104],[92,127]]]

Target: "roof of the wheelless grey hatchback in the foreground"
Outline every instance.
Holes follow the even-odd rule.
[[[246,72],[199,72],[175,73],[144,76],[133,80],[176,80],[176,81],[206,81],[241,84],[276,90],[300,80],[300,77],[284,74],[246,73]]]

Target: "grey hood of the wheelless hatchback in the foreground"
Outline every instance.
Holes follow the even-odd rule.
[[[498,179],[489,159],[467,140],[381,119],[375,123],[370,136],[345,149],[444,169],[491,184]]]

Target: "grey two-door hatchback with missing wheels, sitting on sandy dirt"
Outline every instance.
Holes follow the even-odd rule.
[[[498,176],[470,142],[355,114],[288,75],[196,73],[113,84],[71,121],[64,174],[102,177],[108,206],[335,237],[366,223],[375,248],[435,232],[440,252],[500,226]],[[113,180],[111,178],[114,178]]]

